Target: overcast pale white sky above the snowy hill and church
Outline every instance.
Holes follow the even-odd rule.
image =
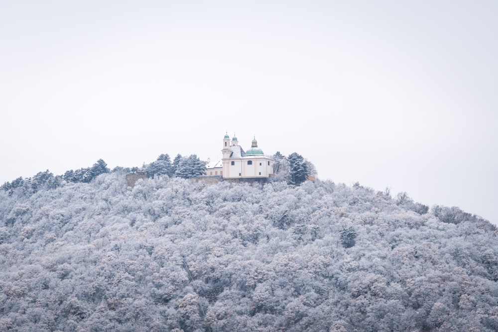
[[[222,138],[498,223],[497,1],[0,0],[0,183]]]

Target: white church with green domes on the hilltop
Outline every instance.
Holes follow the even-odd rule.
[[[225,179],[254,179],[268,178],[273,174],[273,159],[264,155],[255,137],[250,149],[244,151],[235,135],[230,139],[225,134],[221,152],[221,161],[206,165],[207,175],[221,175]]]

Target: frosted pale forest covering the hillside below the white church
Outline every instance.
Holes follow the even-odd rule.
[[[97,173],[0,190],[0,331],[498,331],[498,232],[458,208]]]

